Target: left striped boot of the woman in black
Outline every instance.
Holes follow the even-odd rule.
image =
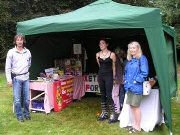
[[[98,121],[104,121],[108,119],[108,111],[107,111],[107,104],[106,103],[101,103],[101,108],[102,108],[102,113],[98,117]]]

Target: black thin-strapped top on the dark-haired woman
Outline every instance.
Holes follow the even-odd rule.
[[[110,53],[111,56],[111,53]],[[100,57],[98,57],[99,59],[99,74],[107,74],[107,73],[113,73],[113,69],[112,69],[112,59],[110,58],[110,56],[106,59],[102,59]]]

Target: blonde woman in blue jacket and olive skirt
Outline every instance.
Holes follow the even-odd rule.
[[[130,105],[134,124],[129,133],[141,131],[140,103],[143,94],[143,81],[148,76],[149,68],[146,57],[142,54],[141,46],[133,41],[128,44],[127,63],[125,66],[124,88],[127,93],[126,103]]]

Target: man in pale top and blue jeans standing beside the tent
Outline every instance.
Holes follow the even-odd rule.
[[[6,57],[6,78],[9,86],[13,87],[13,98],[17,120],[24,122],[30,120],[29,113],[29,68],[31,66],[31,53],[25,48],[25,37],[17,34],[14,37],[14,48],[10,49]],[[22,96],[22,97],[21,97]],[[24,112],[22,112],[21,99],[23,99]]]

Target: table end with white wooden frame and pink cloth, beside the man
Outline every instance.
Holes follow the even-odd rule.
[[[50,113],[51,109],[54,108],[53,104],[53,82],[48,81],[30,81],[30,110],[43,111]],[[34,108],[32,103],[34,100],[43,97],[44,109]]]

